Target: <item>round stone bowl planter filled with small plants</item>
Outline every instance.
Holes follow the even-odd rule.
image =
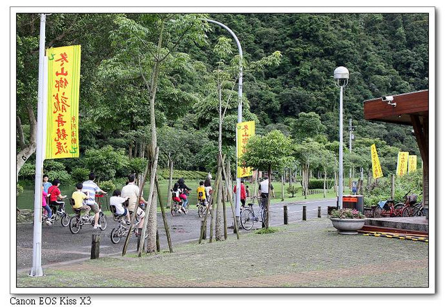
[[[356,235],[357,230],[362,229],[366,220],[361,212],[350,208],[332,210],[329,218],[332,226],[342,235]]]

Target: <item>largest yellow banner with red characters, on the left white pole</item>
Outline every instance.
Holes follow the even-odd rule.
[[[48,113],[45,159],[79,157],[81,46],[47,49]]]

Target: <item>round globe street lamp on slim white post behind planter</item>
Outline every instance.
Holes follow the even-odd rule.
[[[340,66],[334,70],[335,85],[340,88],[339,106],[339,209],[343,208],[343,88],[348,85],[349,71],[346,67]]]

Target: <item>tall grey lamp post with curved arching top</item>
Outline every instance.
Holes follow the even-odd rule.
[[[239,76],[238,76],[238,123],[243,122],[243,49],[241,49],[241,44],[236,37],[235,33],[225,24],[216,22],[215,20],[205,19],[206,22],[211,22],[213,24],[218,24],[225,28],[234,38],[236,45],[238,46],[239,53]],[[236,129],[237,130],[237,129]],[[236,167],[238,167],[238,144],[235,147],[236,156]],[[241,178],[236,176],[236,204],[235,204],[235,215],[239,219],[240,201],[241,201]]]

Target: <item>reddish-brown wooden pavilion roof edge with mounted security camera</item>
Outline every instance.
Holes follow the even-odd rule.
[[[420,119],[421,124],[428,121],[428,90],[394,95],[394,105],[382,98],[363,102],[364,118],[380,122],[412,125],[412,115]]]

